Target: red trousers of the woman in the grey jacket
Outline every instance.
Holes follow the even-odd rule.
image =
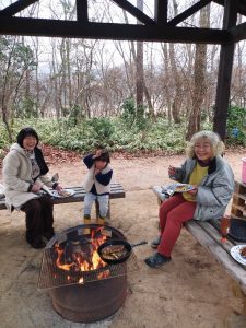
[[[196,202],[187,201],[177,194],[161,204],[159,218],[161,243],[157,251],[169,257],[180,234],[183,223],[194,218]]]

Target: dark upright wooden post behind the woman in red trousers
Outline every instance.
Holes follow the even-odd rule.
[[[236,25],[237,0],[225,0],[223,28],[229,30]],[[213,119],[213,130],[222,140],[226,137],[226,118],[230,104],[230,87],[233,69],[234,43],[221,46],[220,66],[216,85],[216,99]]]

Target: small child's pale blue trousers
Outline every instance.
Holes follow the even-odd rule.
[[[91,215],[92,204],[96,199],[99,203],[99,216],[106,218],[109,195],[94,195],[92,192],[86,192],[84,196],[84,216]]]

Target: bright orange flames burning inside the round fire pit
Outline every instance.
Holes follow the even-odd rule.
[[[69,256],[66,254],[66,247],[62,248],[60,245],[56,244],[56,266],[62,270],[70,272],[84,272],[104,268],[107,263],[105,263],[101,259],[97,253],[97,248],[106,241],[107,237],[103,234],[99,234],[99,237],[95,238],[95,234],[98,233],[98,230],[102,230],[102,227],[97,229],[96,231],[92,230],[90,243],[84,244],[84,247],[83,244],[71,246],[71,249],[69,249]],[[101,272],[98,274],[98,279],[104,279],[107,276],[109,276],[108,270],[106,270],[105,272]],[[70,279],[71,277],[68,276],[68,281]],[[80,278],[79,283],[83,282],[83,278]]]

